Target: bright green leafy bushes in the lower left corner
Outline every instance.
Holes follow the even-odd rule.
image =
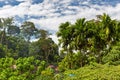
[[[36,64],[37,62],[37,64]],[[45,70],[45,61],[35,60],[34,57],[1,58],[0,80],[33,80]]]

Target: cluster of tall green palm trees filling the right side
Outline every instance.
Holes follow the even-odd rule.
[[[116,42],[120,41],[119,23],[117,20],[112,20],[107,14],[100,15],[96,20],[87,21],[85,18],[81,18],[76,20],[74,24],[69,22],[62,23],[59,26],[57,36],[59,37],[59,44],[63,49],[62,53],[67,54],[63,59],[63,64],[64,62],[65,65],[74,63],[74,51],[79,51],[82,54],[81,57],[79,56],[81,61],[77,59],[77,62],[81,63],[81,67],[89,64],[90,57],[94,57],[98,63],[103,63],[104,60],[102,62],[102,58],[106,54],[112,57],[110,54],[116,53],[117,55],[115,54],[114,57],[117,56],[116,58],[118,59],[119,51],[109,51]],[[72,54],[72,57],[69,54]],[[71,60],[70,63],[69,60]],[[77,66],[80,65],[77,64]]]

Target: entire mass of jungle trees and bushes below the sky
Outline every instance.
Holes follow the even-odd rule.
[[[119,20],[80,18],[61,23],[56,35],[58,45],[33,22],[0,18],[0,80],[120,79]]]

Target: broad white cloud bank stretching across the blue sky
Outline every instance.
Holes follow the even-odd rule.
[[[3,1],[3,0],[0,0]],[[108,5],[93,5],[89,4],[89,0],[84,1],[87,6],[72,6],[74,0],[44,0],[39,4],[32,4],[32,0],[16,0],[21,3],[16,6],[6,5],[0,7],[0,17],[11,17],[24,15],[29,16],[44,16],[40,19],[31,18],[35,24],[40,25],[40,28],[57,31],[60,23],[70,21],[75,22],[76,19],[85,17],[87,19],[95,18],[97,14],[107,13],[112,18],[120,19],[120,4],[116,6]],[[61,11],[60,11],[61,10]],[[60,13],[61,12],[61,13]],[[66,15],[62,15],[66,14]],[[54,37],[55,35],[53,35]],[[56,39],[56,38],[55,38]]]

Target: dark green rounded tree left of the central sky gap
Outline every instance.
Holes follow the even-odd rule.
[[[29,54],[48,63],[57,62],[59,59],[58,46],[51,38],[47,37],[42,37],[38,41],[31,43]]]

